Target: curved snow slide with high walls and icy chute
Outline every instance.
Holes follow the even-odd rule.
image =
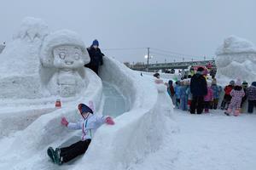
[[[104,63],[100,75],[103,83],[106,84],[103,96],[100,93],[102,92],[101,80],[89,71],[90,87],[87,88],[84,96],[67,102],[67,105],[64,103],[61,110],[39,116],[24,130],[17,131],[12,137],[0,140],[1,145],[9,146],[0,152],[0,156],[3,157],[0,168],[59,168],[49,161],[45,150],[49,145],[68,144],[71,139],[78,139],[80,132],[67,133],[67,128],[60,126],[60,119],[61,116],[67,116],[70,121],[78,119],[79,114],[75,109],[77,104],[88,103],[89,100],[100,105],[96,109],[100,114],[102,112],[111,114],[113,107],[110,105],[115,105],[116,112],[113,114],[116,116],[125,113],[115,119],[115,126],[104,125],[98,129],[89,150],[79,160],[83,163],[75,161],[61,166],[61,169],[79,169],[79,166],[84,163],[88,169],[102,169],[103,167],[104,169],[125,169],[132,163],[143,161],[144,156],[158,150],[163,134],[166,133],[166,116],[171,116],[172,113],[172,105],[169,105],[172,102],[168,102],[170,99],[166,95],[165,86],[157,85],[156,88],[154,82],[138,76],[137,72],[131,71],[114,59],[106,58]],[[116,90],[113,96],[117,99],[112,99],[115,101],[113,103],[108,102],[111,96],[108,92],[111,88],[112,91]],[[119,107],[119,105],[124,107]]]

